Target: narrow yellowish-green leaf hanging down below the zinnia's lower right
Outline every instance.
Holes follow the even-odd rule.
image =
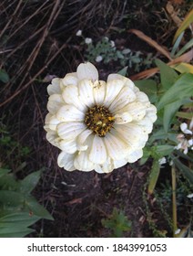
[[[149,176],[148,188],[147,188],[147,192],[149,195],[152,195],[154,192],[154,188],[157,185],[157,179],[158,179],[159,173],[160,173],[159,163],[156,159],[154,159],[150,176]]]

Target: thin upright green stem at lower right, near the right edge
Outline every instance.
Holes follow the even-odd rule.
[[[176,237],[177,226],[177,197],[176,197],[176,187],[177,187],[177,178],[176,178],[176,168],[175,165],[172,165],[171,168],[171,177],[172,177],[172,213],[173,213],[173,237]]]

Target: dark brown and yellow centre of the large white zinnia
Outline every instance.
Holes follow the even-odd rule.
[[[85,123],[88,129],[92,130],[99,137],[104,137],[113,126],[115,117],[104,106],[89,108],[85,115]]]

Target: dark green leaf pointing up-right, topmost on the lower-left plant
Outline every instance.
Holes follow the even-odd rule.
[[[32,174],[25,176],[25,178],[20,183],[20,191],[22,193],[30,194],[31,191],[36,187],[42,171],[36,171]]]

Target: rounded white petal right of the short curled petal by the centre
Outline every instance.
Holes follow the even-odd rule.
[[[132,115],[134,121],[139,121],[146,115],[146,108],[139,101],[131,102],[127,104],[127,112]]]

